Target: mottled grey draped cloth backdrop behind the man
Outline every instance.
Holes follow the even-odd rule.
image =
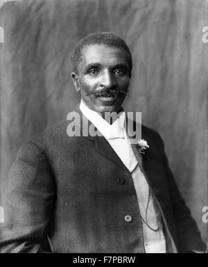
[[[5,3],[0,26],[1,201],[19,146],[79,101],[69,55],[81,37],[112,31],[133,54],[127,111],[159,131],[180,192],[207,241],[207,1],[22,0]],[[1,205],[1,202],[0,202]]]

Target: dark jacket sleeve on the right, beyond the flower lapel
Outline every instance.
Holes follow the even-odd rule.
[[[160,151],[162,162],[166,171],[166,177],[168,179],[169,192],[171,194],[171,201],[173,205],[173,214],[177,228],[177,238],[179,241],[179,252],[205,251],[206,245],[200,237],[200,232],[196,222],[191,217],[189,208],[180,195],[171,169],[168,166],[168,160],[164,151],[164,142],[158,133],[157,147]]]

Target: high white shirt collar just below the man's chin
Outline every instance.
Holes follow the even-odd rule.
[[[80,102],[80,111],[82,111],[84,116],[94,124],[107,140],[125,138],[125,111],[121,112],[119,118],[112,125],[104,120],[101,114],[89,109],[83,100]]]

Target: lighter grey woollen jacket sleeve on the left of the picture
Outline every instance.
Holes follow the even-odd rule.
[[[3,201],[0,252],[46,252],[46,228],[53,210],[55,183],[40,147],[28,142],[13,163]]]

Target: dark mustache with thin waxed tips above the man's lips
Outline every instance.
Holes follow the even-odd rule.
[[[100,98],[100,97],[108,97],[108,98],[110,98],[110,97],[116,97],[116,96],[121,96],[121,95],[129,96],[126,91],[119,90],[116,87],[114,87],[114,88],[103,88],[101,90],[92,89],[92,91],[90,91],[86,95],[94,95],[94,97],[96,97],[96,98]]]

